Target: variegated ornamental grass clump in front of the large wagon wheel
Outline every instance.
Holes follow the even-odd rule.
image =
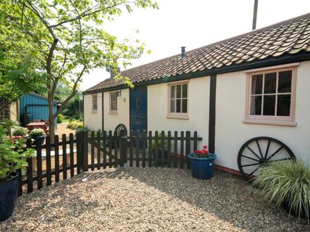
[[[302,161],[271,162],[259,168],[253,181],[269,202],[310,222],[310,169]]]

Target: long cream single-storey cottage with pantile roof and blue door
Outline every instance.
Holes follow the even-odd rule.
[[[230,171],[283,146],[310,163],[310,13],[121,74],[134,89],[110,78],[84,92],[85,127],[197,131]]]

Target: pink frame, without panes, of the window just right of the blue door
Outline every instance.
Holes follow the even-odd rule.
[[[178,98],[181,100],[181,112],[171,112],[171,87],[172,86],[178,86],[178,85],[183,85],[183,84],[187,84],[187,109],[186,109],[186,113],[185,112],[182,112],[182,99],[185,99],[185,98],[182,98],[182,86],[181,86],[181,98]],[[190,84],[189,84],[189,81],[182,81],[182,82],[173,82],[171,84],[168,84],[168,96],[167,96],[167,118],[176,118],[176,119],[181,119],[181,120],[188,120],[189,119],[189,112],[188,112],[188,109],[189,109],[189,88],[190,87]],[[176,91],[175,91],[176,92]],[[175,101],[177,98],[174,98]]]

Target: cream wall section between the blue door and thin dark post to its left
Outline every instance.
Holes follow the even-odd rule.
[[[118,97],[117,114],[111,113],[109,107],[110,92],[104,92],[104,130],[114,131],[118,124],[124,124],[129,131],[129,89],[121,90],[121,96]]]

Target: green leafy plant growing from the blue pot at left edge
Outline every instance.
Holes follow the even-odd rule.
[[[11,122],[0,123],[0,181],[9,179],[16,169],[25,169],[27,157],[35,154],[35,150],[26,148],[24,138],[7,135],[11,125]]]

